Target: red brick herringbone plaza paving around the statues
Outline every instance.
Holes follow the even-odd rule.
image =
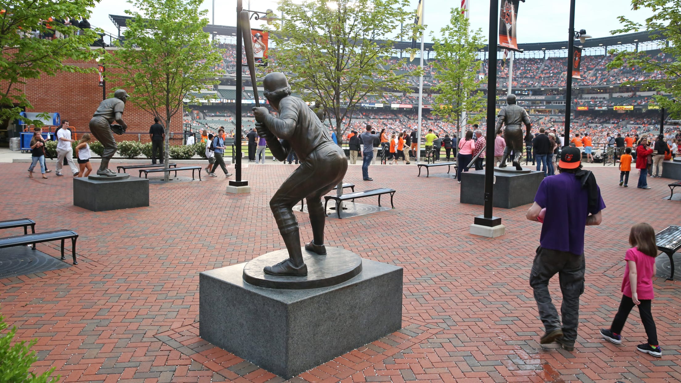
[[[3,219],[29,217],[37,231],[80,234],[77,266],[0,279],[6,320],[22,339],[39,339],[37,370],[56,367],[65,382],[282,380],[198,337],[198,273],[283,247],[268,201],[295,165],[249,166],[247,195],[225,194],[222,177],[151,185],[148,208],[101,213],[73,206],[71,177],[29,179],[27,166],[0,164]],[[635,350],[646,341],[636,309],[622,346],[598,334],[621,297],[629,228],[638,221],[656,230],[680,224],[681,204],[663,200],[669,180],[649,179],[651,190],[624,189],[616,168],[591,169],[607,209],[601,226],[586,229],[580,337],[566,352],[538,344],[543,328],[528,274],[540,224],[524,218],[528,206],[495,209],[504,236],[471,236],[482,207],[460,204],[454,180],[416,177],[415,166],[371,166],[375,181],[368,183],[360,166],[350,166],[345,181],[358,190],[396,189],[396,209],[328,219],[327,244],[405,269],[403,328],[291,380],[681,381],[680,282],[654,281],[662,358]],[[311,238],[307,217],[297,215],[303,239]],[[58,257],[58,245],[38,249]],[[559,306],[557,277],[551,288]]]

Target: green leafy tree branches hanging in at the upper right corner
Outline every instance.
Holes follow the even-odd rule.
[[[622,49],[612,49],[611,55],[616,55],[608,69],[619,67],[638,67],[645,72],[662,72],[665,78],[649,78],[647,80],[633,80],[622,85],[639,85],[642,89],[650,89],[681,100],[681,0],[631,0],[631,9],[649,8],[653,14],[646,18],[643,24],[620,16],[622,28],[611,31],[612,34],[648,31],[653,38],[663,37],[667,44],[661,48],[665,59],[650,57],[646,52],[629,52]],[[669,112],[669,116],[681,119],[681,102],[673,102],[663,95],[655,96],[659,106]]]

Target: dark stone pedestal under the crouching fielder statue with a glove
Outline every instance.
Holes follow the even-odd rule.
[[[74,205],[91,211],[149,206],[149,180],[74,178]]]

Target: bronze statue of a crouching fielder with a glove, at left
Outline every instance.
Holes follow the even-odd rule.
[[[127,129],[127,125],[122,118],[127,97],[128,95],[123,89],[116,90],[113,98],[105,99],[99,103],[99,108],[97,108],[90,120],[90,132],[104,145],[101,164],[99,164],[99,170],[97,170],[98,176],[116,176],[116,172],[109,169],[109,160],[118,150],[113,132],[123,134],[125,129]],[[114,121],[119,125],[114,125]]]

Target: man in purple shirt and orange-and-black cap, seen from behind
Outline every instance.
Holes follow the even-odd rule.
[[[535,291],[539,317],[545,328],[539,343],[556,341],[567,351],[574,350],[580,295],[584,292],[584,229],[600,225],[601,210],[605,209],[596,179],[582,170],[581,157],[580,149],[563,149],[558,163],[560,174],[541,181],[535,203],[527,212],[527,219],[543,223],[530,272],[530,286]],[[548,289],[556,273],[563,293],[562,327]]]

